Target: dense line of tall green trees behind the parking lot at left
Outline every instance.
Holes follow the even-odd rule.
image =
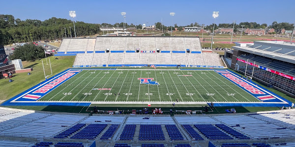
[[[75,22],[75,27],[77,37],[99,32],[98,24]],[[61,39],[65,37],[64,28],[66,28],[66,37],[75,36],[71,20],[53,17],[45,21],[30,19],[22,21],[12,15],[0,15],[0,44]]]

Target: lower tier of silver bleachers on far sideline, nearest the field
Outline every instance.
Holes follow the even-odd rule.
[[[222,66],[217,53],[78,53],[73,66],[135,66],[147,64],[158,66]]]

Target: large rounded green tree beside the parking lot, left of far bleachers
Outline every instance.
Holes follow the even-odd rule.
[[[16,47],[13,54],[9,56],[11,60],[21,59],[22,61],[35,61],[44,57],[44,48],[34,44],[26,44],[21,47]]]

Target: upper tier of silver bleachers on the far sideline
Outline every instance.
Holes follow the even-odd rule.
[[[64,38],[58,54],[102,53],[106,49],[111,52],[135,51],[175,51],[184,53],[190,49],[192,53],[201,53],[198,37],[96,37],[96,38]]]

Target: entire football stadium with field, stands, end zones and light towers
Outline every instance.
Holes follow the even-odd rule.
[[[292,38],[220,54],[197,35],[125,29],[65,34],[30,62],[10,59],[26,43],[0,46],[0,147],[295,147]]]

